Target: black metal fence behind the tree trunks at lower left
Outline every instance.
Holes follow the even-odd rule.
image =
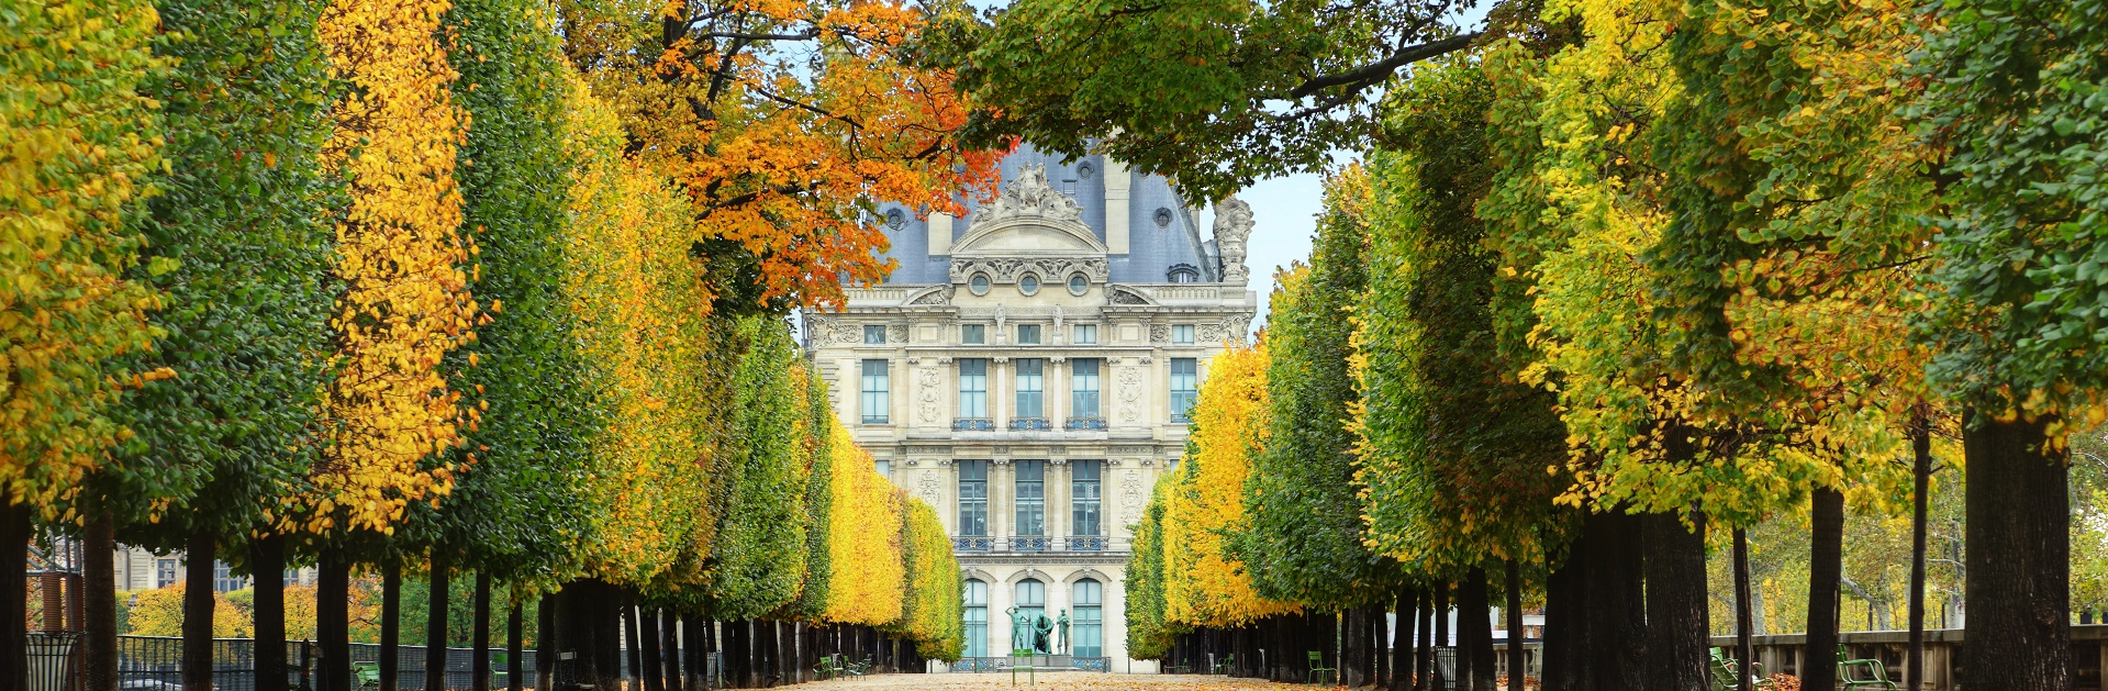
[[[34,647],[32,647],[34,655]],[[352,643],[352,687],[358,689],[358,670],[379,664],[382,647]],[[72,659],[78,659],[74,647]],[[118,689],[122,691],[181,691],[183,689],[183,638],[162,636],[118,636]],[[474,676],[474,649],[447,649],[447,689],[468,689]],[[396,687],[424,689],[426,649],[396,647]],[[287,685],[291,689],[314,689],[316,645],[314,640],[287,640]],[[506,651],[491,651],[491,687],[510,685],[506,676]],[[525,685],[533,685],[535,653],[521,653]],[[255,691],[255,640],[213,638],[213,691]],[[32,691],[65,691],[59,687],[36,687]]]

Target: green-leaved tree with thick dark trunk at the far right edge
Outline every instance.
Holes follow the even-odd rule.
[[[2066,434],[2108,411],[2100,348],[2108,4],[1946,2],[1912,114],[1941,166],[1933,381],[1969,409],[1971,689],[2070,689]]]

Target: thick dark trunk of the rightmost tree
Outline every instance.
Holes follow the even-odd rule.
[[[1986,421],[1963,434],[1967,565],[1963,687],[2070,691],[2070,497],[2051,419]]]

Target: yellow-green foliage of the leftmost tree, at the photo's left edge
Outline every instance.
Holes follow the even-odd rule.
[[[101,411],[135,383],[112,358],[148,348],[154,293],[122,272],[126,230],[160,169],[152,2],[0,6],[0,504],[48,510],[120,430]]]

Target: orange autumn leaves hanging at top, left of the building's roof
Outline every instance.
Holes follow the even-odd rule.
[[[993,190],[997,152],[957,141],[951,72],[913,40],[963,6],[904,2],[565,4],[565,36],[594,95],[622,114],[628,150],[681,185],[689,240],[748,274],[719,291],[839,303],[843,280],[890,270],[868,213],[904,202],[959,213]],[[685,32],[662,29],[685,25]],[[649,27],[639,32],[635,27]],[[744,257],[734,257],[744,255]]]

